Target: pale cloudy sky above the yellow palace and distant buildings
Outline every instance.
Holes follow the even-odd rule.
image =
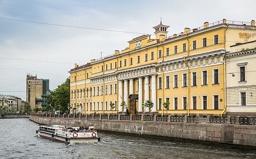
[[[0,94],[26,100],[26,75],[50,80],[50,90],[68,71],[114,54],[141,34],[70,28],[1,18],[151,34],[169,25],[168,36],[222,20],[256,20],[256,1],[36,1],[0,0]]]

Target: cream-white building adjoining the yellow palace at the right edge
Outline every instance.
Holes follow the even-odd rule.
[[[226,54],[226,108],[227,115],[256,116],[256,40]]]

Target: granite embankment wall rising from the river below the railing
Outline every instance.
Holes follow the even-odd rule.
[[[94,126],[98,130],[256,146],[256,126],[30,116],[38,124]]]

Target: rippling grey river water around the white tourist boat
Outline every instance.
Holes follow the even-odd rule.
[[[98,132],[98,143],[37,137],[29,119],[0,119],[0,158],[256,158],[255,151]]]

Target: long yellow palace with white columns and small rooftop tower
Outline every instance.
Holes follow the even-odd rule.
[[[75,64],[69,71],[71,112],[122,113],[124,101],[137,114],[150,112],[143,104],[151,100],[153,113],[224,114],[225,54],[231,45],[255,40],[255,21],[205,22],[170,37],[168,28],[160,22],[155,39],[142,35],[113,55]]]

